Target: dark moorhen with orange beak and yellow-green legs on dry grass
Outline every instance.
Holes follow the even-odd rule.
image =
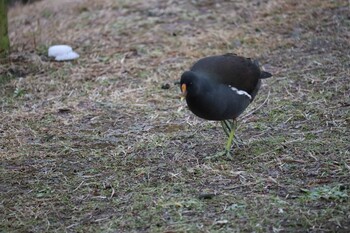
[[[225,150],[214,158],[232,158],[236,119],[254,100],[261,80],[270,77],[257,60],[234,53],[201,58],[181,75],[181,96],[189,110],[200,118],[220,121],[228,136]]]

